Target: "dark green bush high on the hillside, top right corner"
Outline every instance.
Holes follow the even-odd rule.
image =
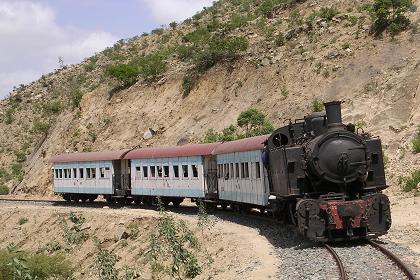
[[[388,30],[394,36],[406,29],[410,25],[406,13],[412,6],[412,0],[375,0],[369,7],[375,33]]]

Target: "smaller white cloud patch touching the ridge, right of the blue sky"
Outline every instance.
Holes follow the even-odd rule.
[[[193,16],[196,12],[212,5],[213,0],[143,0],[150,8],[156,21],[168,24]]]

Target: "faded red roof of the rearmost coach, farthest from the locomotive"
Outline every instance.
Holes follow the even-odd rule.
[[[84,161],[101,161],[101,160],[119,160],[130,151],[129,149],[118,151],[105,152],[90,152],[90,153],[67,153],[53,156],[50,160],[52,163],[67,163],[67,162],[84,162]]]

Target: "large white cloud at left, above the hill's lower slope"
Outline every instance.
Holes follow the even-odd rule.
[[[50,7],[16,0],[0,2],[0,38],[0,98],[52,71],[58,57],[77,63],[117,41],[106,32],[59,26]]]

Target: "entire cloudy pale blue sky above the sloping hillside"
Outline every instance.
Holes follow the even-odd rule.
[[[143,32],[182,21],[213,0],[0,0],[0,99],[14,86]]]

